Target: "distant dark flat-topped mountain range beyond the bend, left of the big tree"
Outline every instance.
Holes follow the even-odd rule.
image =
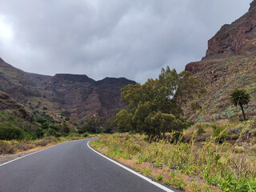
[[[0,90],[27,108],[57,119],[63,115],[81,119],[95,114],[109,118],[126,108],[121,102],[122,87],[135,83],[126,78],[94,81],[78,74],[30,74],[0,58]]]

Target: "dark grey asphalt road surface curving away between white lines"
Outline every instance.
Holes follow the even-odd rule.
[[[165,191],[71,141],[0,165],[1,192]]]

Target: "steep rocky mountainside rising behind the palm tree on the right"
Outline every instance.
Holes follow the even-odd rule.
[[[256,115],[256,0],[250,10],[230,25],[224,25],[208,42],[206,56],[191,62],[186,70],[201,78],[206,94],[197,98],[193,111],[185,108],[186,117],[194,122],[236,118],[239,107],[231,106],[229,94],[234,88],[248,91],[251,102],[246,114]]]

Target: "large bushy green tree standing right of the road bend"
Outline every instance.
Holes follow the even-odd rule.
[[[192,74],[162,69],[157,79],[122,89],[122,101],[129,110],[121,110],[117,118],[120,131],[134,131],[152,138],[165,138],[166,132],[182,130],[186,122],[181,118],[182,105],[198,94],[200,82]]]

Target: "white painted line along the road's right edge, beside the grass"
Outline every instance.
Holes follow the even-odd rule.
[[[92,140],[90,140],[92,141]],[[87,142],[87,146],[90,148],[90,150],[93,150],[96,154],[101,155],[103,158],[106,158],[107,160],[109,160],[110,162],[114,162],[114,164],[121,166],[123,169],[128,170],[130,173],[137,175],[139,178],[142,178],[144,180],[146,180],[146,182],[150,182],[151,184],[153,184],[154,186],[158,186],[160,189],[165,190],[167,192],[175,192],[174,190],[170,190],[169,188],[167,188],[166,186],[162,186],[160,183],[158,182],[154,182],[152,181],[150,178],[147,178],[146,176],[139,174],[138,172],[131,170],[130,168],[123,166],[121,163],[114,161],[111,158],[106,157],[105,155],[99,153],[97,150],[94,150],[91,146],[90,146],[90,141]]]

